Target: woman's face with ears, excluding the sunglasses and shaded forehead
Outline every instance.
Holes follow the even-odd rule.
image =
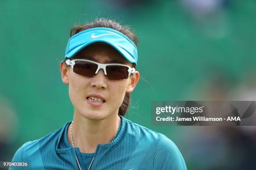
[[[88,45],[77,53],[75,59],[87,59],[106,63],[121,63],[132,67],[132,63],[112,46],[104,43]],[[102,69],[93,77],[86,77],[73,72],[71,66],[61,63],[61,78],[69,85],[69,97],[74,106],[75,113],[90,120],[103,120],[118,113],[118,108],[123,102],[125,93],[132,92],[135,88],[139,73],[129,76],[125,80],[109,80]],[[93,102],[100,98],[104,102]]]

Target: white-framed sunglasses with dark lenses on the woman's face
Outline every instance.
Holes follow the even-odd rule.
[[[99,62],[83,59],[66,60],[67,65],[71,65],[73,71],[79,75],[93,77],[100,69],[109,80],[127,79],[129,75],[135,73],[135,68],[123,64],[101,64]]]

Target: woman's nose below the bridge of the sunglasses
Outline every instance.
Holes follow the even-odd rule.
[[[91,86],[99,89],[107,88],[107,77],[102,69],[100,69],[99,72],[92,77]]]

